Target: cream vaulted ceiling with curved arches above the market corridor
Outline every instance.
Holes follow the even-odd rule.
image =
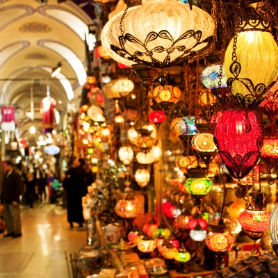
[[[38,129],[40,101],[47,95],[47,84],[60,112],[80,94],[86,78],[85,33],[92,23],[82,9],[90,1],[40,2],[0,0],[0,104],[17,108],[19,133],[27,137],[33,124],[31,90]],[[62,70],[51,78],[58,62]]]

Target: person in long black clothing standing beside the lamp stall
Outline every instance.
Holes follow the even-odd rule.
[[[86,172],[83,169],[85,161],[83,158],[74,160],[74,167],[65,173],[63,187],[67,193],[67,221],[73,228],[73,222],[83,226],[84,218],[82,211],[82,197],[88,193],[85,186]]]

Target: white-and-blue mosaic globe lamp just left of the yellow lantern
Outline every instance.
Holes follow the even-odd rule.
[[[222,79],[220,88],[227,88],[227,79],[224,67],[222,68]],[[202,72],[202,83],[208,89],[219,88],[220,64],[212,64],[206,67]]]

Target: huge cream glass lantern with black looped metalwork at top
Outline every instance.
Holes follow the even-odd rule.
[[[110,19],[101,32],[101,42],[120,63],[171,67],[207,47],[214,28],[211,15],[197,7],[190,10],[174,0],[143,1],[123,19],[121,13]]]

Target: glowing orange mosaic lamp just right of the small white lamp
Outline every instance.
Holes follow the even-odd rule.
[[[213,252],[228,252],[234,245],[234,236],[229,232],[210,232],[206,238],[206,246]]]

